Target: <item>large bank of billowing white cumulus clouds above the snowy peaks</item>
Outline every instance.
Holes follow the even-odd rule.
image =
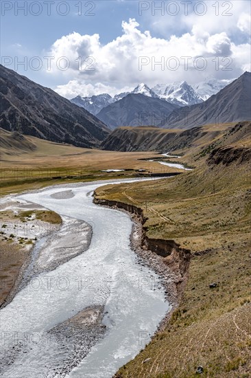
[[[246,32],[246,14],[238,20],[235,27]],[[211,32],[207,22],[195,23],[192,16],[187,21],[191,23],[189,32],[157,38],[149,30],[142,32],[136,19],[129,19],[122,22],[121,36],[104,45],[98,34],[73,32],[51,46],[48,54],[53,61],[48,74],[64,75],[69,80],[67,85],[56,87],[67,98],[115,94],[139,82],[152,86],[187,80],[192,84],[207,76],[228,79],[241,75],[250,67],[250,44],[235,44],[226,31]],[[69,64],[65,70],[57,64],[62,57]]]

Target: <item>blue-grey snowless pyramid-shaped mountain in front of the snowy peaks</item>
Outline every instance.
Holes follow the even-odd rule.
[[[102,109],[97,118],[112,130],[118,126],[156,126],[165,124],[169,113],[176,108],[176,105],[159,98],[130,93]]]

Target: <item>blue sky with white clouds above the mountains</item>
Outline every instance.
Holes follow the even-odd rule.
[[[1,0],[1,64],[73,98],[250,68],[250,0]]]

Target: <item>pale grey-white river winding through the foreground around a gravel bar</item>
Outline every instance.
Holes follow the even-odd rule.
[[[46,340],[43,337],[51,327],[95,304],[105,305],[108,332],[69,377],[112,377],[150,341],[169,310],[159,277],[137,264],[130,249],[130,217],[93,204],[90,192],[98,186],[71,184],[20,196],[58,214],[87,221],[94,225],[94,233],[86,252],[48,274],[40,274],[1,310],[3,355],[12,351],[16,337],[28,335],[26,351],[5,368],[3,377],[56,377],[51,366],[58,358],[58,345],[40,340]],[[64,188],[71,188],[73,197],[51,197]],[[38,342],[34,342],[34,335]]]

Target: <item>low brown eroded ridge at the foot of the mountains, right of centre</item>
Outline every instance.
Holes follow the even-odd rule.
[[[108,151],[175,151],[194,148],[204,155],[208,146],[241,145],[251,138],[251,122],[193,127],[193,129],[160,129],[158,127],[118,127],[101,144]]]

